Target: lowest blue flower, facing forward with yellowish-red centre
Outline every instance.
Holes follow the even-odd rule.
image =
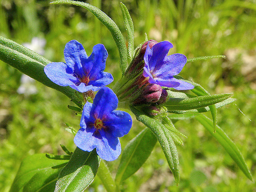
[[[118,158],[121,154],[118,137],[129,132],[132,118],[124,111],[114,111],[117,104],[116,94],[107,87],[97,92],[93,103],[85,103],[81,128],[74,138],[77,147],[88,152],[96,148],[97,154],[106,161]]]

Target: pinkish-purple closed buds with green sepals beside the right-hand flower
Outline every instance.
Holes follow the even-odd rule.
[[[114,87],[119,98],[119,104],[123,104],[123,107],[130,104],[146,105],[145,110],[151,111],[148,114],[152,116],[159,113],[157,112],[160,111],[158,105],[166,102],[168,97],[165,89],[162,89],[160,85],[149,83],[148,78],[142,74],[147,47],[151,49],[156,44],[156,40],[149,40],[136,50],[135,57],[124,73],[122,80]]]

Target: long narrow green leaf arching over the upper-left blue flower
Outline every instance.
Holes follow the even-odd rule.
[[[120,55],[120,68],[122,73],[124,74],[126,70],[126,64],[127,64],[127,49],[126,49],[126,44],[123,38],[123,35],[118,28],[118,26],[115,24],[115,22],[107,16],[104,12],[102,12],[100,9],[97,7],[90,5],[85,2],[80,2],[80,1],[71,1],[71,0],[57,0],[54,2],[51,2],[51,4],[69,4],[69,5],[76,5],[79,7],[83,7],[87,9],[88,11],[92,12],[101,22],[104,24],[110,31],[116,46],[119,50],[119,55]]]

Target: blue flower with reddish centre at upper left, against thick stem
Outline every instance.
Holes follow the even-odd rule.
[[[104,72],[107,50],[102,44],[93,47],[88,57],[83,45],[71,40],[64,49],[64,62],[52,62],[45,66],[45,74],[57,85],[70,86],[79,92],[97,91],[113,81],[110,73]]]

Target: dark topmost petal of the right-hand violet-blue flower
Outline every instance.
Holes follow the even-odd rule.
[[[161,41],[152,47],[152,56],[149,59],[150,71],[154,71],[155,68],[158,69],[159,66],[162,66],[164,58],[172,47],[173,44],[169,41]],[[147,54],[147,50],[145,54]]]

